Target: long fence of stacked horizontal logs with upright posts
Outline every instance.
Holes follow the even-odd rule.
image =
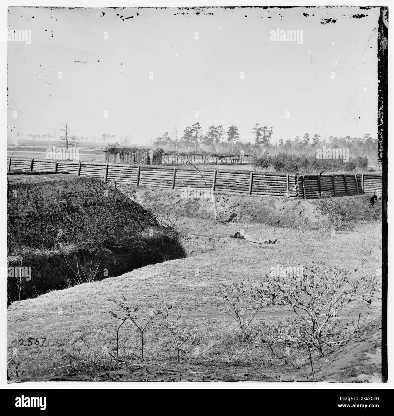
[[[212,188],[213,191],[255,196],[317,198],[365,193],[382,195],[382,176],[373,173],[295,174],[251,172],[224,169],[196,169],[117,163],[85,163],[65,160],[7,158],[8,172],[69,172],[98,178],[108,183],[129,183],[135,186],[186,189]]]

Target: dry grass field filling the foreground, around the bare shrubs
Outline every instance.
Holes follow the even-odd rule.
[[[357,206],[366,203],[364,196],[355,198],[359,198]],[[349,198],[335,199],[349,203]],[[296,267],[320,260],[327,267],[357,269],[357,279],[371,279],[381,267],[381,223],[352,221],[349,230],[332,236],[319,230],[301,233],[299,227],[218,222],[198,212],[182,213],[176,214],[175,228],[186,244],[187,258],[12,302],[7,310],[10,381],[380,381],[379,287],[368,302],[351,302],[340,311],[339,319],[348,328],[347,343],[328,349],[323,357],[312,352],[313,372],[305,348],[289,347],[275,337],[295,314],[284,306],[265,305],[248,332],[242,333],[215,292],[223,283],[248,278],[255,284],[266,282],[270,268],[277,265]],[[278,241],[260,245],[230,238],[240,228]],[[125,322],[119,330],[117,360],[116,330],[121,321],[109,311],[124,315],[114,300],[133,310],[139,307],[137,322],[145,322],[148,305],[156,298],[154,309],[171,305],[170,317],[181,313],[179,329],[190,333],[181,348],[180,364],[160,316],[144,333],[142,364],[140,334],[131,321]]]

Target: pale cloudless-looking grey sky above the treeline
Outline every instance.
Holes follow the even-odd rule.
[[[7,42],[10,138],[67,120],[77,136],[139,144],[196,121],[204,133],[235,124],[242,141],[256,122],[274,126],[273,142],[377,134],[379,8],[12,7],[8,18],[31,30],[30,45]],[[302,44],[270,40],[277,28],[302,30]]]

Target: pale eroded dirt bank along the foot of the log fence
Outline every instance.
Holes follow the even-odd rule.
[[[118,185],[120,191],[152,212],[168,212],[179,217],[213,219],[210,190],[187,194],[178,190]],[[204,191],[206,191],[204,193]],[[195,197],[196,196],[196,197]],[[345,224],[382,219],[382,203],[370,205],[366,195],[316,200],[257,197],[214,193],[219,220],[231,223],[262,223],[278,227],[316,223],[328,212]],[[328,204],[328,205],[327,205]]]

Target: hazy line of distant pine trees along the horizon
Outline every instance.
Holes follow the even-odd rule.
[[[174,126],[170,129],[171,134],[166,131],[156,139],[151,138],[146,145],[149,148],[163,149],[165,152],[175,151],[177,154],[206,154],[218,156],[253,155],[260,158],[264,154],[278,155],[286,153],[291,155],[307,155],[315,156],[318,152],[324,152],[325,147],[346,149],[347,153],[354,159],[358,156],[367,157],[369,164],[379,163],[378,158],[378,141],[376,137],[372,137],[369,133],[362,137],[346,136],[337,137],[330,136],[326,133],[305,133],[303,136],[295,136],[294,139],[281,138],[275,134],[274,126],[264,126],[255,123],[250,132],[240,134],[238,127],[231,125],[225,128],[222,125],[209,126],[204,132],[203,126],[196,122],[192,126],[186,126],[182,131],[180,127]],[[60,129],[62,131],[62,129]],[[24,135],[16,134],[18,141]],[[146,138],[136,137],[131,133],[120,135],[103,133],[101,136],[74,136],[72,135],[74,145],[82,143],[102,143],[107,144],[109,148],[126,148],[132,149],[133,144],[146,140]],[[28,140],[49,140],[52,139],[50,134],[32,135],[27,134],[25,139]],[[58,139],[64,140],[63,136]],[[139,146],[143,148],[144,146]]]

